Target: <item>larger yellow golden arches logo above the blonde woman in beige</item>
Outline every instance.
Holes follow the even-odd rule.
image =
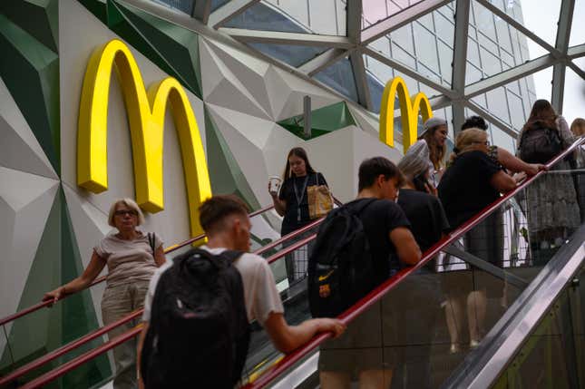
[[[149,212],[164,209],[162,141],[167,102],[180,141],[190,209],[190,232],[200,233],[199,204],[211,196],[210,176],[200,131],[187,94],[167,77],[144,88],[130,49],[114,39],[95,50],[83,79],[77,134],[77,184],[93,193],[108,189],[108,96],[115,64],[122,85],[132,138],[136,202]]]

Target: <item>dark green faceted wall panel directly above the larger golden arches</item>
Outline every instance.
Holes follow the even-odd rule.
[[[112,0],[107,16],[114,33],[201,97],[197,34]]]

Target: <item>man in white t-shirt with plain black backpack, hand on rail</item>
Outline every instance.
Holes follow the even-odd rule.
[[[168,261],[151,278],[139,342],[146,388],[233,388],[253,320],[283,353],[319,332],[343,333],[345,326],[330,318],[288,326],[268,263],[249,254],[251,224],[240,199],[206,200],[200,224],[207,244]]]

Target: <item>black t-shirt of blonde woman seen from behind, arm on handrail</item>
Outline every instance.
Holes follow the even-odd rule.
[[[463,153],[445,170],[437,190],[451,229],[500,198],[500,192],[490,184],[499,170],[501,168],[482,151]]]

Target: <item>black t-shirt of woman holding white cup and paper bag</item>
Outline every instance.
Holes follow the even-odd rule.
[[[321,173],[309,173],[303,177],[290,177],[282,183],[278,199],[287,201],[287,209],[285,211],[285,217],[282,220],[281,235],[286,235],[300,229],[311,221],[308,216],[307,188],[303,190],[305,180],[307,180],[307,188],[317,185],[317,181],[318,185],[327,185],[327,181]],[[295,186],[297,187],[298,197],[302,197],[300,200],[300,221],[298,221],[298,201],[295,194]]]

